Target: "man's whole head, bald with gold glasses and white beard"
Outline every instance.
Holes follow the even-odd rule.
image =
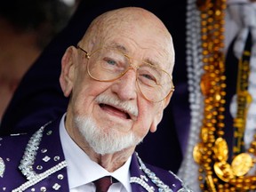
[[[71,95],[68,133],[88,154],[128,158],[148,131],[156,132],[171,100],[172,36],[153,13],[128,7],[93,20],[78,45],[61,60],[60,85],[65,96]]]

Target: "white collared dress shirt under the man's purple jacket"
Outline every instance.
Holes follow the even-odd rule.
[[[93,162],[69,137],[64,124],[65,116],[60,121],[60,141],[68,164],[69,191],[95,192],[95,186],[92,181],[110,175],[119,182],[112,184],[108,192],[132,192],[129,172],[132,157],[115,172],[108,172],[100,164]]]

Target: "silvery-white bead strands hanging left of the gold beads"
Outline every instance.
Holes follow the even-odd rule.
[[[190,127],[188,132],[188,147],[180,165],[179,177],[194,191],[199,191],[198,164],[193,159],[193,148],[199,142],[199,132],[202,125],[204,97],[200,89],[200,79],[204,73],[201,46],[201,22],[200,12],[196,7],[196,0],[187,1],[187,71],[188,92],[190,107]]]

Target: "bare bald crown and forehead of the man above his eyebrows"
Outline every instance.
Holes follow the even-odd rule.
[[[125,7],[105,12],[92,21],[80,45],[92,51],[114,38],[129,38],[141,49],[154,46],[160,54],[168,56],[171,71],[174,64],[172,36],[155,14],[139,7]]]

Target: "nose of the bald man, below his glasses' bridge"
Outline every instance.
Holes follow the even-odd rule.
[[[112,86],[112,92],[115,92],[120,100],[134,100],[137,97],[136,71],[130,68],[124,76],[116,79]]]

